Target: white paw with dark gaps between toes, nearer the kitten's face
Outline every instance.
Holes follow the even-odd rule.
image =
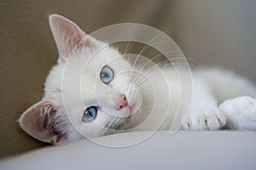
[[[218,130],[225,124],[225,116],[218,109],[195,110],[190,111],[187,121],[183,123],[183,128],[186,130]]]

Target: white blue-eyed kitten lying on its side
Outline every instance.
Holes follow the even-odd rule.
[[[142,60],[150,69],[135,68],[117,49],[57,14],[50,15],[49,26],[58,64],[49,72],[42,101],[19,120],[35,139],[56,144],[125,130],[177,130],[182,124],[184,129],[217,130],[226,122],[236,129],[256,129],[255,99],[241,97],[218,108],[226,99],[256,97],[256,88],[241,77],[201,69],[184,91],[171,66],[152,69],[153,63]],[[192,100],[184,97],[191,92]]]

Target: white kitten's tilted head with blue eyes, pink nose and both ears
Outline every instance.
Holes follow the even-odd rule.
[[[22,114],[20,127],[56,144],[102,136],[129,124],[142,102],[131,81],[131,64],[71,20],[52,14],[49,26],[58,65],[49,72],[43,100]]]

